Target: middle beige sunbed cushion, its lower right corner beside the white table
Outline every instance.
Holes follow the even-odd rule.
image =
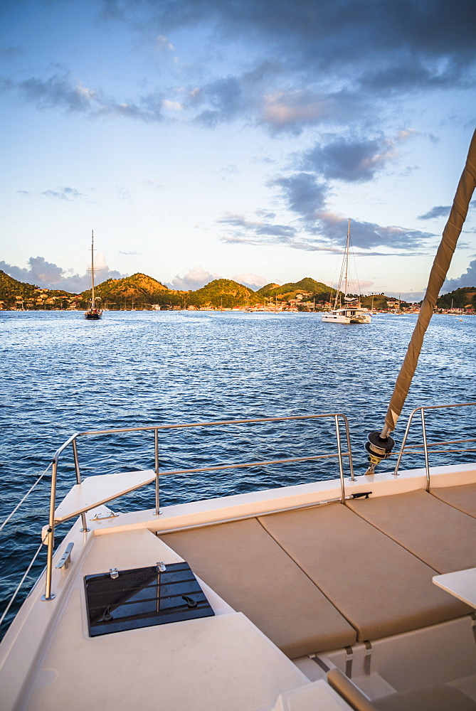
[[[431,582],[434,570],[341,503],[260,521],[357,629],[359,641],[469,611]]]

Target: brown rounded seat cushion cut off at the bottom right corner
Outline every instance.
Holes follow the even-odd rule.
[[[476,711],[476,703],[452,686],[434,686],[374,700],[378,711]]]

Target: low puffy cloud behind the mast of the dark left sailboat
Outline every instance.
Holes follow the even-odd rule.
[[[28,264],[29,268],[26,269],[0,262],[0,269],[9,274],[10,277],[18,279],[19,282],[35,284],[43,289],[64,289],[65,292],[73,292],[73,294],[90,289],[91,277],[90,273],[88,274],[88,270],[83,275],[73,274],[72,269],[58,267],[58,264],[47,262],[44,257],[30,257]],[[94,274],[95,284],[105,282],[106,279],[121,279],[127,276],[127,274],[120,274],[120,272],[111,270],[107,266],[102,252],[97,252],[96,254]]]

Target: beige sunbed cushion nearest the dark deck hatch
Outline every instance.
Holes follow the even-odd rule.
[[[291,658],[356,641],[354,629],[255,518],[161,538]]]

